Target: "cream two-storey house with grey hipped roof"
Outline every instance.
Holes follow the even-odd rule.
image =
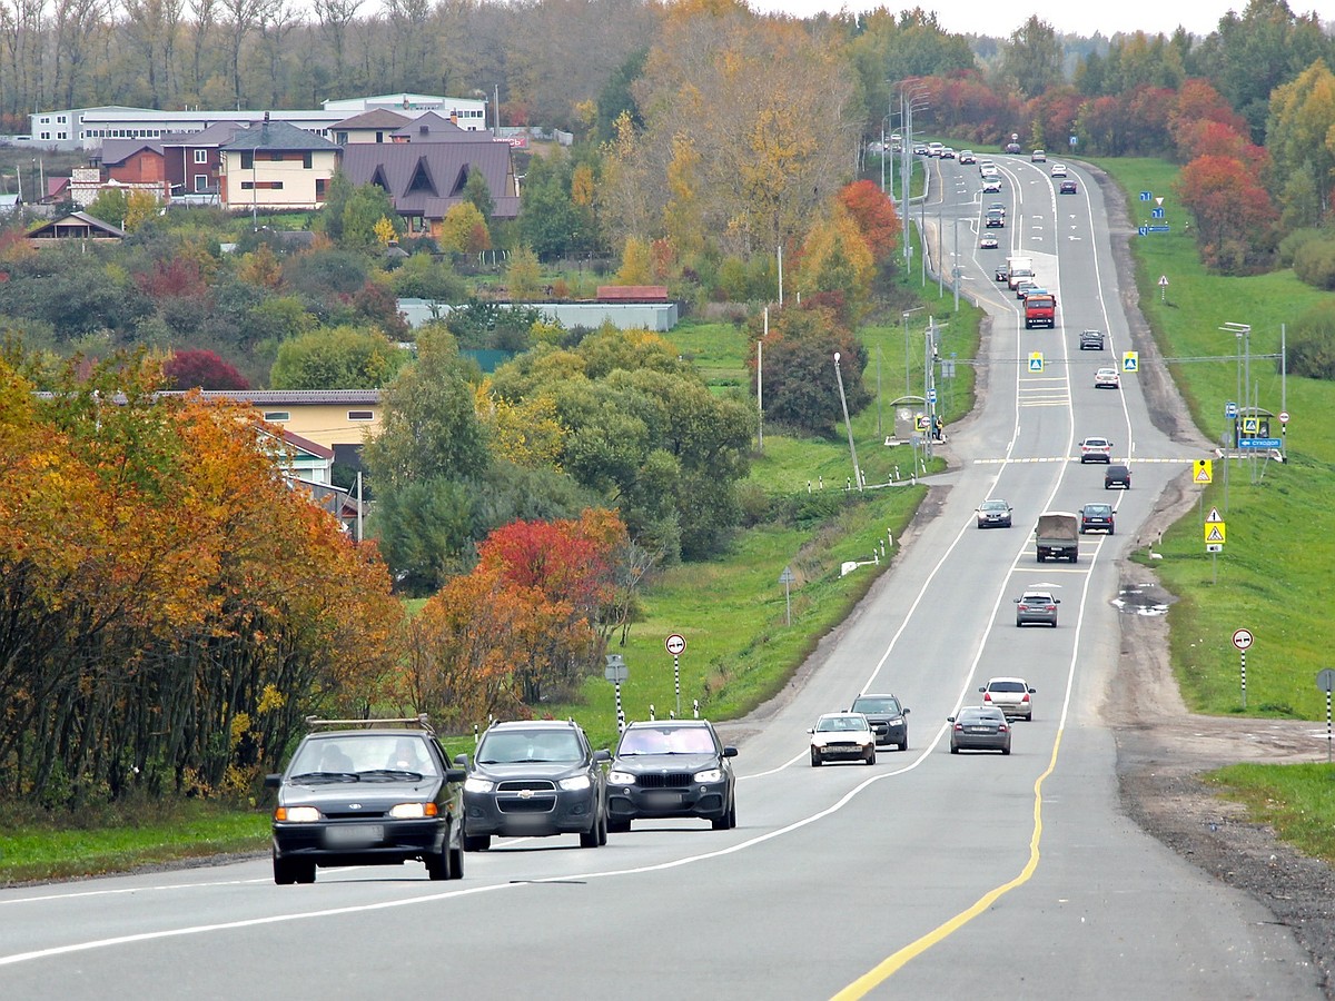
[[[238,129],[219,147],[222,204],[235,211],[320,208],[339,153],[336,144],[286,121]]]

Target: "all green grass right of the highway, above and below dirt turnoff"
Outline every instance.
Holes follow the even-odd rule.
[[[1255,635],[1247,651],[1250,715],[1323,721],[1326,695],[1316,673],[1331,665],[1335,625],[1324,606],[1335,562],[1335,509],[1330,505],[1335,472],[1335,384],[1288,378],[1287,395],[1278,363],[1280,326],[1292,324],[1312,304],[1328,299],[1291,271],[1254,278],[1207,274],[1189,235],[1172,184],[1176,168],[1157,160],[1107,160],[1100,165],[1125,190],[1132,223],[1148,222],[1153,204],[1139,192],[1164,196],[1169,234],[1133,238],[1143,308],[1172,363],[1199,427],[1215,440],[1224,434],[1224,404],[1238,400],[1238,339],[1224,323],[1251,324],[1251,383],[1259,406],[1291,415],[1284,435],[1288,462],[1235,462],[1226,494],[1223,470],[1203,490],[1206,510],[1226,515],[1224,551],[1216,566],[1204,551],[1200,513],[1164,534],[1155,567],[1179,597],[1169,611],[1172,663],[1192,710],[1243,713],[1242,671],[1231,638],[1246,627]],[[1168,278],[1167,303],[1159,278]],[[1192,362],[1185,359],[1220,358]],[[1240,402],[1240,400],[1239,400]],[[1279,435],[1279,424],[1271,428]],[[1206,456],[1203,456],[1206,458]],[[1139,554],[1144,558],[1145,554]],[[1319,729],[1319,727],[1314,727]],[[1298,848],[1335,862],[1335,797],[1324,765],[1323,742],[1312,743],[1312,765],[1238,765],[1211,775],[1224,795],[1248,805],[1251,815],[1272,823]]]

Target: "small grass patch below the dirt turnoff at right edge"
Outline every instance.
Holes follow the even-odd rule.
[[[1206,775],[1220,795],[1243,803],[1248,819],[1268,823],[1280,838],[1312,858],[1335,865],[1331,825],[1331,767],[1308,765],[1232,765]]]

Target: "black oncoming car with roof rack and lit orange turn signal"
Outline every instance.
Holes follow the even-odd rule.
[[[459,783],[426,718],[308,719],[287,770],[267,775],[274,809],[274,882],[315,882],[316,866],[426,864],[433,880],[463,878]],[[417,729],[409,729],[417,727]]]

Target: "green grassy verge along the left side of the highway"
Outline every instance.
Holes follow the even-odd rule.
[[[916,258],[914,258],[916,259]],[[910,283],[913,288],[918,283]],[[949,290],[937,299],[928,284],[924,310],[909,326],[914,392],[922,386],[922,331],[926,315],[939,323],[941,352],[961,359],[975,354],[981,314],[961,300],[952,314]],[[906,292],[900,290],[897,296]],[[853,418],[858,463],[869,484],[884,484],[896,475],[906,479],[913,464],[908,446],[886,448],[885,434],[893,427],[889,402],[904,387],[904,324],[894,307],[892,319],[872,322],[861,331],[870,359],[864,382],[873,403]],[[749,336],[733,324],[686,323],[670,339],[692,356],[718,392],[749,384],[746,359],[754,350]],[[876,403],[877,359],[881,364],[880,420]],[[845,370],[846,374],[846,370]],[[940,384],[940,408],[945,419],[965,414],[973,403],[973,371],[957,366],[957,376]],[[940,460],[937,460],[939,463]],[[733,550],[708,563],[674,567],[662,574],[645,595],[646,621],[635,623],[625,647],[630,678],[622,686],[627,717],[645,718],[653,705],[661,717],[674,709],[672,657],[663,649],[670,633],[686,637],[681,657],[682,711],[700,699],[702,715],[726,719],[744,714],[778,691],[822,635],[836,627],[866,593],[885,562],[840,575],[844,561],[880,558],[881,542],[897,539],[925,490],[917,486],[872,488],[861,495],[845,491],[852,459],[842,422],[826,439],[800,439],[768,428],[764,452],[752,468],[754,487],[778,499],[797,517],[789,523],[764,523],[742,531]],[[824,482],[825,490],[820,488]],[[810,483],[810,492],[808,492]],[[890,534],[888,537],[888,533]],[[888,547],[893,555],[894,545]],[[778,577],[790,567],[792,625],[785,625],[785,595]],[[601,677],[591,678],[578,702],[549,705],[561,718],[573,715],[597,746],[615,738],[614,689]],[[485,725],[486,721],[479,721]],[[446,741],[451,753],[469,749],[467,737]],[[71,830],[72,818],[40,822],[32,814],[0,817],[0,884],[43,877],[69,877],[125,869],[134,865],[184,858],[214,852],[262,850],[268,842],[266,811],[228,813],[222,807],[190,803],[175,815],[170,806],[160,817],[143,822],[104,814],[83,818]]]

